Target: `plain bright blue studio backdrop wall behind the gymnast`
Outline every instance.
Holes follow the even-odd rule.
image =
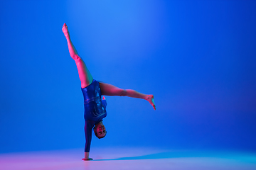
[[[0,152],[82,148],[71,39],[107,96],[93,147],[256,151],[256,1],[0,1]],[[82,152],[82,150],[81,150]]]

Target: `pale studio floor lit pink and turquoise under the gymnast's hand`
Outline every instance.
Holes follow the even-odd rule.
[[[82,161],[83,149],[0,154],[1,170],[97,169],[256,169],[256,154],[245,152],[174,151],[142,147],[92,148],[92,161]]]

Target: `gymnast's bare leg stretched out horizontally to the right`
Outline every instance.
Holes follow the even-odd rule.
[[[120,89],[116,86],[113,86],[112,84],[106,84],[102,82],[100,82],[100,89],[102,91],[102,95],[105,96],[128,96],[132,98],[142,98],[146,101],[149,101],[154,110],[156,110],[154,96],[152,94],[142,94],[131,89]]]

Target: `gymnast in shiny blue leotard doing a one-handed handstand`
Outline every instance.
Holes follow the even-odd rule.
[[[63,33],[68,42],[68,50],[70,56],[75,60],[75,64],[78,67],[78,74],[81,81],[82,94],[84,96],[84,106],[85,106],[85,158],[83,160],[92,160],[89,158],[90,143],[92,140],[92,128],[94,128],[95,135],[100,139],[105,137],[107,134],[106,128],[102,123],[102,119],[107,116],[106,106],[107,102],[105,96],[129,96],[132,98],[142,98],[149,101],[154,110],[156,106],[154,104],[154,96],[141,94],[138,91],[131,89],[119,89],[111,84],[106,84],[103,82],[98,82],[92,78],[87,69],[85,62],[78,55],[77,50],[70,40],[70,34],[68,32],[68,26],[64,23]]]

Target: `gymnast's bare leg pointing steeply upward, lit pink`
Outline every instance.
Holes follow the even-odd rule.
[[[68,42],[68,50],[70,52],[70,56],[75,60],[75,64],[78,67],[78,74],[81,81],[81,87],[85,88],[89,86],[92,83],[92,74],[90,74],[89,70],[87,69],[85,62],[82,60],[82,58],[78,55],[77,50],[75,50],[75,47],[73,43],[70,40],[70,34],[68,33],[68,26],[64,23],[63,25],[63,33],[65,35],[65,38]]]

